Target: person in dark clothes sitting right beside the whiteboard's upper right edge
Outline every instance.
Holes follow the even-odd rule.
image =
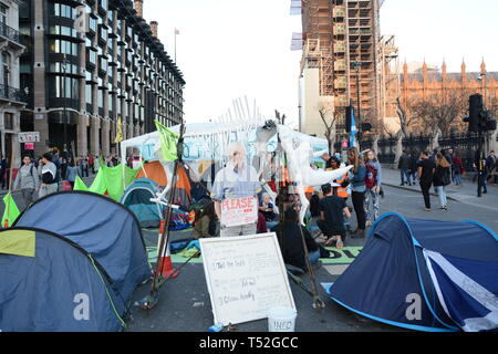
[[[271,229],[281,240],[280,249],[282,251],[283,262],[298,267],[303,271],[309,271],[307,266],[305,252],[302,242],[302,235],[308,248],[308,259],[311,267],[320,264],[320,247],[311,237],[310,231],[299,223],[300,208],[294,205],[288,205],[283,214],[283,223],[277,225]]]

